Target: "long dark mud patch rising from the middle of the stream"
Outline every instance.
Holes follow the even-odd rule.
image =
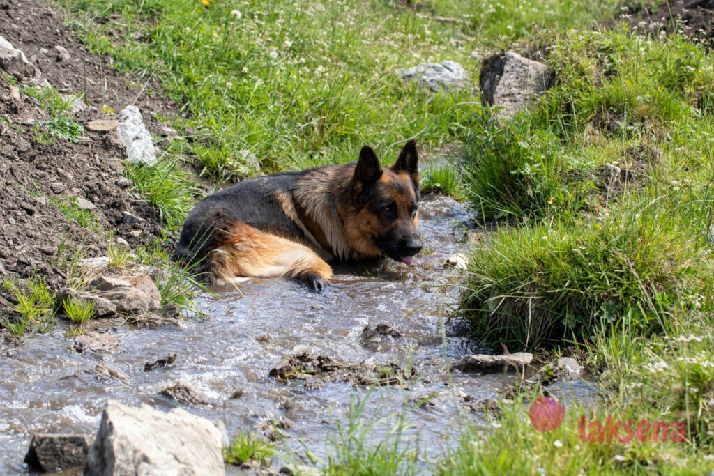
[[[347,382],[353,386],[397,385],[408,388],[416,376],[413,366],[403,368],[390,362],[385,365],[362,362],[354,365],[336,363],[326,355],[302,353],[288,358],[285,365],[273,368],[268,376],[288,383],[306,380],[306,388],[320,388],[329,382]]]

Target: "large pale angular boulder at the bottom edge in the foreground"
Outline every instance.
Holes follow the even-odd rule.
[[[223,447],[228,435],[222,422],[175,408],[168,413],[149,405],[128,407],[110,400],[89,449],[84,474],[223,475]]]

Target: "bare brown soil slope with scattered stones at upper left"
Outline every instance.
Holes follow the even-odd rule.
[[[0,0],[0,34],[24,51],[56,90],[84,96],[96,108],[79,113],[80,123],[116,119],[113,111],[134,104],[149,131],[156,133],[161,123],[154,114],[171,117],[177,111],[156,81],[123,74],[111,67],[108,56],[87,51],[59,12],[43,1]],[[64,47],[69,59],[59,59],[55,46]],[[34,123],[46,121],[47,111],[35,98],[21,92],[16,101],[10,92],[11,84],[0,76],[0,279],[39,272],[57,288],[64,284],[64,274],[50,263],[61,246],[68,253],[81,247],[91,257],[106,255],[109,233],[131,247],[161,236],[158,212],[121,175],[125,150],[116,131],[85,129],[78,143],[59,138],[42,143],[36,140]],[[63,196],[94,203],[91,213],[98,226],[87,229],[66,218],[56,208]],[[144,221],[124,223],[125,211]],[[6,305],[0,298],[0,308]]]

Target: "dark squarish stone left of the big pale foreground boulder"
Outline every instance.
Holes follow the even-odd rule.
[[[25,462],[42,472],[82,467],[90,445],[88,435],[33,435]]]

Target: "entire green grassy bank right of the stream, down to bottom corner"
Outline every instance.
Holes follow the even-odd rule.
[[[473,250],[460,312],[499,350],[579,349],[603,400],[538,433],[527,403],[540,390],[523,390],[491,430],[465,432],[442,472],[706,472],[714,57],[622,29],[539,41],[555,87],[514,123],[477,127],[467,141],[471,201],[513,226]],[[688,440],[583,444],[576,417],[593,411],[602,422],[680,420]]]

